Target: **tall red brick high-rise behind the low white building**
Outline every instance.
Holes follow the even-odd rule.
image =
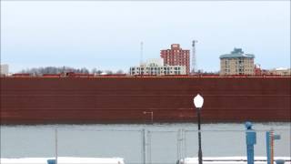
[[[186,74],[190,73],[190,50],[182,49],[179,44],[171,45],[171,49],[161,50],[164,65],[186,66]]]

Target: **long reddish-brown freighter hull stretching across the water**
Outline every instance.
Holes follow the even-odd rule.
[[[1,77],[2,124],[290,121],[291,77]]]

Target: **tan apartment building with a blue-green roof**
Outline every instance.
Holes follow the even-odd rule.
[[[241,48],[235,48],[230,54],[225,54],[220,58],[220,76],[226,75],[254,75],[255,56],[245,54]]]

